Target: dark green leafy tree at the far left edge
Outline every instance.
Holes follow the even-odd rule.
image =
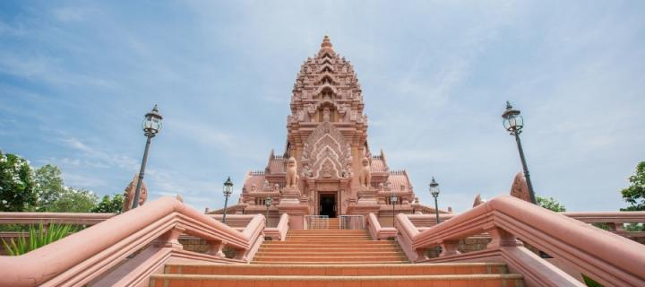
[[[36,204],[29,161],[0,151],[0,211],[22,212]]]

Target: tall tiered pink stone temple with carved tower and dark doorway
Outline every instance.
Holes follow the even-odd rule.
[[[239,204],[229,212],[262,213],[271,197],[273,217],[374,213],[391,218],[392,194],[398,197],[395,213],[434,212],[415,202],[404,170],[390,170],[383,151],[370,151],[363,99],[354,67],[325,36],[297,73],[284,152],[271,151],[264,170],[246,175]]]

